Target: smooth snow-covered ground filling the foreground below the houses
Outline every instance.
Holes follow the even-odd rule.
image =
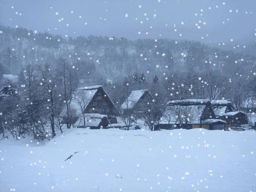
[[[256,191],[252,130],[72,129],[45,142],[0,141],[1,192]]]

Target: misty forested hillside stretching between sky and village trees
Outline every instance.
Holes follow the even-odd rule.
[[[54,63],[58,58],[79,70],[79,79],[114,80],[143,73],[146,77],[175,72],[216,71],[227,77],[250,76],[256,66],[254,46],[250,52],[223,50],[197,41],[88,37],[62,38],[48,32],[0,26],[0,63],[6,73],[17,75],[26,64]],[[251,53],[251,54],[250,54]],[[6,59],[11,55],[11,59]],[[86,64],[85,64],[86,63]],[[9,65],[9,67],[8,67]],[[79,66],[85,65],[81,70]],[[234,68],[236,66],[236,68]]]

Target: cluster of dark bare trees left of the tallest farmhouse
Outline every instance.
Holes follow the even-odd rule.
[[[8,130],[14,137],[32,134],[43,140],[60,129],[60,112],[67,109],[67,128],[71,127],[70,101],[76,89],[76,70],[64,59],[57,65],[27,65],[18,81],[6,81],[0,93],[0,133]],[[47,126],[52,133],[47,132]]]

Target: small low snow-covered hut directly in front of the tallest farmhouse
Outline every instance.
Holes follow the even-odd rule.
[[[108,116],[99,113],[85,113],[74,123],[76,128],[90,127],[90,129],[104,129],[110,126]]]

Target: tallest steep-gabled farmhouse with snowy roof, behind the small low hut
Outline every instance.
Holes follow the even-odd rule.
[[[116,123],[116,116],[119,115],[119,111],[101,85],[76,89],[70,108],[75,111],[77,119],[85,113],[99,113],[108,116],[110,123]],[[64,108],[61,115],[66,116],[66,113],[67,110]]]

